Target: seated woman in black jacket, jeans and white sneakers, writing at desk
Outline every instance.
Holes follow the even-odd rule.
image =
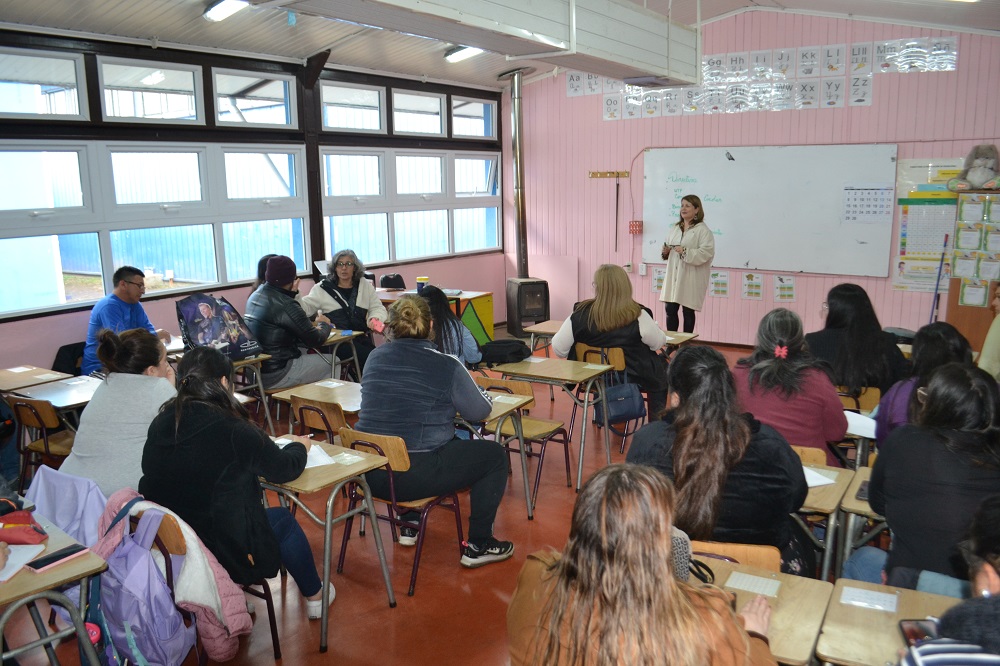
[[[317,619],[323,585],[309,542],[287,509],[264,508],[257,482],[297,478],[309,447],[303,439],[278,448],[233,398],[229,359],[195,347],[178,368],[177,397],[149,426],[139,492],[190,525],[236,583],[276,576],[283,564]]]

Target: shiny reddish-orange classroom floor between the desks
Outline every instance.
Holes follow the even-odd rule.
[[[728,356],[728,354],[727,354]],[[735,359],[737,356],[733,356]],[[557,392],[550,402],[548,390],[535,387],[536,406],[533,413],[545,418],[568,421],[570,400]],[[573,474],[576,473],[578,434],[571,445]],[[589,475],[604,465],[603,442],[591,426],[584,455],[584,473]],[[475,444],[470,444],[474,446]],[[319,622],[305,617],[305,603],[290,580],[275,579],[272,590],[278,614],[282,661],[289,664],[350,663],[366,664],[468,664],[481,666],[507,663],[506,611],[517,574],[525,557],[546,547],[561,548],[569,532],[569,517],[575,492],[566,487],[565,470],[558,445],[549,448],[539,489],[535,519],[529,521],[525,510],[524,489],[515,473],[508,484],[506,496],[497,516],[495,534],[516,545],[514,557],[503,563],[468,570],[459,566],[455,526],[449,512],[431,515],[430,534],[417,578],[416,593],[406,596],[413,549],[392,544],[387,527],[381,527],[398,605],[388,606],[385,587],[378,567],[374,544],[369,532],[366,537],[355,535],[348,547],[343,574],[333,575],[337,599],[331,607],[330,647],[320,654]],[[612,438],[612,460],[620,462],[618,440]],[[513,458],[515,465],[517,459]],[[532,461],[531,474],[534,474]],[[515,467],[515,472],[519,471]],[[574,476],[575,481],[575,476]],[[468,515],[468,493],[460,496],[463,513]],[[323,497],[307,502],[317,512],[323,510]],[[343,499],[338,499],[343,502]],[[463,529],[467,529],[467,520]],[[303,521],[316,554],[320,558],[323,533],[314,524]],[[339,548],[343,528],[334,530]],[[317,565],[321,562],[317,561]],[[336,567],[336,555],[333,566]],[[274,661],[271,638],[263,602],[257,601],[258,614],[253,633],[241,641],[240,653],[232,663],[265,665]],[[18,645],[32,638],[31,626],[25,614],[22,621],[8,632],[11,644]],[[78,661],[75,643],[59,650],[63,663]],[[43,664],[41,651],[21,660],[22,664]],[[186,664],[196,663],[189,657]]]

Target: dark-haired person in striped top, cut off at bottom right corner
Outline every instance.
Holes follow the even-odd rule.
[[[983,500],[962,544],[972,598],[949,609],[937,623],[939,640],[909,649],[902,666],[1000,665],[1000,495]]]

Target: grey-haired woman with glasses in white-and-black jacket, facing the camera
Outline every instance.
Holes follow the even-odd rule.
[[[354,250],[341,250],[333,256],[327,268],[329,274],[313,286],[307,296],[300,298],[306,315],[312,317],[322,312],[334,328],[381,333],[388,313],[378,299],[375,287],[365,279],[365,265]],[[363,373],[375,344],[371,336],[366,335],[354,338],[354,348]],[[350,347],[337,347],[337,357],[342,360],[351,358]]]

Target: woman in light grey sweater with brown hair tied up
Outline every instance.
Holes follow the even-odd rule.
[[[73,450],[60,470],[92,479],[110,497],[139,487],[146,431],[177,392],[166,348],[144,328],[101,331],[97,358],[108,376],[83,410]]]

